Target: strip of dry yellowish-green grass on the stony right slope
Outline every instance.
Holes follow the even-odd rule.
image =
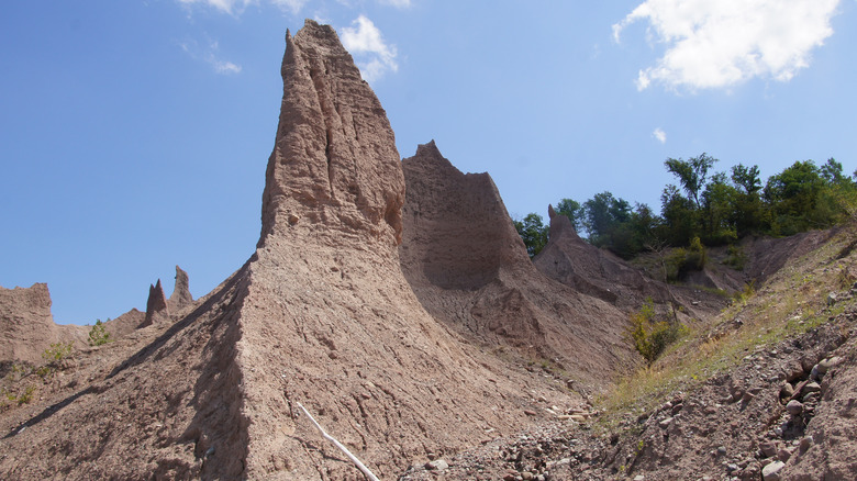
[[[736,294],[720,315],[691,328],[650,367],[620,380],[597,403],[604,413],[601,423],[614,427],[627,413],[653,410],[677,391],[686,391],[735,368],[745,356],[805,333],[838,313],[845,305],[827,305],[831,292],[848,289],[857,272],[857,255],[838,258],[854,242],[842,230],[819,249],[777,272],[758,291]],[[854,302],[854,301],[852,301]]]

